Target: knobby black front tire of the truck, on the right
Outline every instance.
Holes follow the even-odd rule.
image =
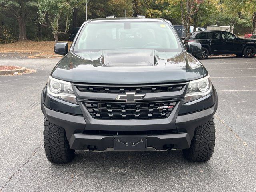
[[[215,145],[214,118],[198,126],[191,141],[190,148],[184,149],[186,159],[192,162],[206,162],[213,154]]]

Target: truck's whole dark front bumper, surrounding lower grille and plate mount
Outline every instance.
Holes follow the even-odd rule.
[[[197,126],[217,110],[217,93],[183,104],[177,101],[168,118],[146,120],[94,119],[82,101],[79,105],[54,98],[42,91],[41,108],[46,118],[63,127],[71,149],[111,150],[116,135],[146,136],[146,150],[186,149]]]

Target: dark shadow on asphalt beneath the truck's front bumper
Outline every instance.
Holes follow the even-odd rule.
[[[54,165],[56,166],[59,165]],[[210,162],[198,163],[189,162],[182,154],[182,150],[166,151],[166,152],[87,152],[76,151],[74,160],[63,166],[79,167],[76,170],[76,175],[84,176],[85,174],[92,174],[96,177],[101,175],[116,174],[119,177],[125,175],[140,175],[150,174],[150,177],[161,173],[166,178],[170,178],[169,174],[180,175],[194,173],[201,174],[204,170],[211,172]],[[172,177],[172,176],[171,176]]]

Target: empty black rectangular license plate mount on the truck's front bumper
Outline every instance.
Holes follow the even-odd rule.
[[[145,151],[147,136],[114,136],[114,150]]]

